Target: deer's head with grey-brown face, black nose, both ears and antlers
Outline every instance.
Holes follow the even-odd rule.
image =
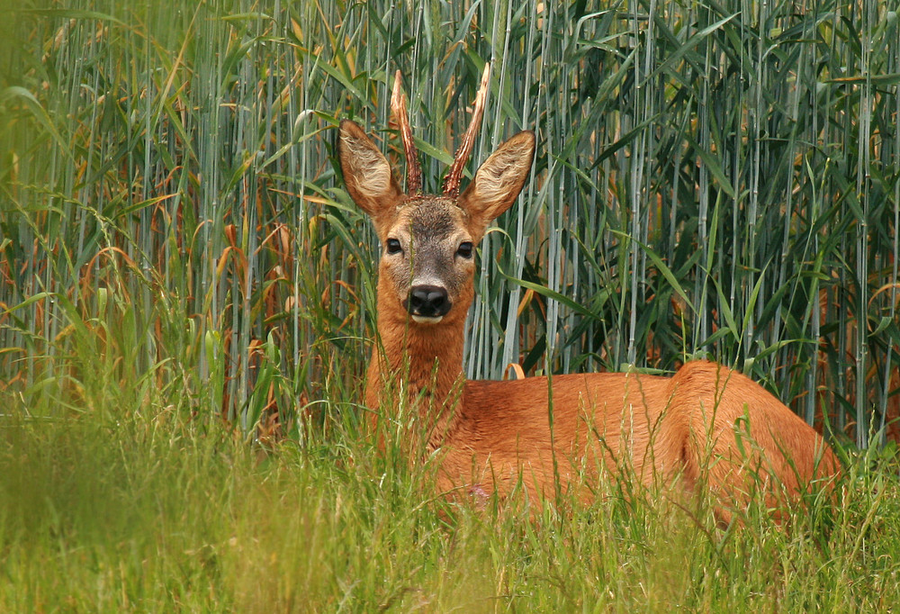
[[[381,240],[379,315],[428,326],[464,321],[473,299],[474,252],[491,221],[515,202],[531,169],[535,135],[522,131],[485,160],[459,194],[465,163],[481,123],[490,66],[473,105],[472,122],[447,173],[443,194],[421,194],[398,71],[392,112],[400,127],[408,172],[404,193],[381,151],[355,122],[340,122],[338,157],[347,192],[368,213]]]

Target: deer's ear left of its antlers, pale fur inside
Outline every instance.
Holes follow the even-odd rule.
[[[360,209],[378,218],[396,208],[403,193],[391,165],[356,122],[340,122],[338,159],[347,192]]]

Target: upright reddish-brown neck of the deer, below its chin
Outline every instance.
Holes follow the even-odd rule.
[[[380,413],[414,408],[429,424],[446,423],[446,410],[458,404],[465,384],[465,313],[422,325],[385,303],[389,301],[383,300],[379,284],[378,335],[366,378],[366,404]]]

